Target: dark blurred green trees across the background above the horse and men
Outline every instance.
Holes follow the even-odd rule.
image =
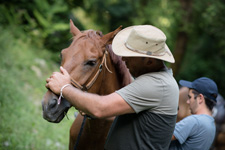
[[[69,19],[80,30],[92,28],[104,34],[120,25],[157,26],[166,34],[171,51],[183,53],[175,58],[181,60],[177,80],[208,76],[225,93],[225,79],[221,79],[225,75],[224,14],[223,0],[10,0],[0,4],[3,28],[22,28],[35,46],[57,53],[69,45]],[[177,50],[183,42],[180,35],[185,35],[185,43]]]

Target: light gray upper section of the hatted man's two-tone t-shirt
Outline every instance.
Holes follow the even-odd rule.
[[[179,88],[171,69],[144,74],[116,92],[136,113],[149,110],[157,114],[177,114]]]

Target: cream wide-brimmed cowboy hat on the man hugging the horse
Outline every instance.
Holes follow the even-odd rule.
[[[151,57],[174,63],[166,45],[166,36],[151,25],[137,25],[121,30],[113,39],[112,50],[123,57]]]

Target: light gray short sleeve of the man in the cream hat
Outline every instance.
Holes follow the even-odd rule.
[[[144,75],[116,92],[136,113],[139,113],[160,105],[163,95],[163,84],[158,78]]]

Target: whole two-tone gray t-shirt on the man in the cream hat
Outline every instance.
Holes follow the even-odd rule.
[[[172,71],[144,74],[116,91],[136,113],[118,116],[106,150],[168,149],[176,123],[179,88]]]

